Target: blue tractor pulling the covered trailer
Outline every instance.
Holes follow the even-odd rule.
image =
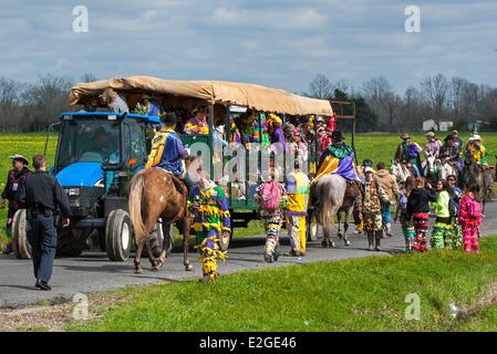
[[[71,204],[71,227],[59,228],[58,232],[59,257],[80,256],[90,239],[113,261],[130,257],[133,226],[127,212],[127,186],[145,167],[151,136],[157,125],[156,116],[71,112],[63,113],[51,126],[59,132],[51,174],[56,176]],[[161,227],[157,232],[162,233]],[[25,210],[14,216],[12,236],[15,256],[30,258]],[[159,247],[159,237],[163,236],[156,235],[153,247]]]

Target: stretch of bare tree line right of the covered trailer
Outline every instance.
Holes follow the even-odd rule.
[[[475,123],[482,131],[497,131],[497,87],[463,77],[427,75],[401,95],[384,76],[371,79],[355,90],[344,80],[332,83],[318,74],[303,94],[354,101],[359,132],[421,132],[427,119],[437,124],[453,122],[459,131]]]

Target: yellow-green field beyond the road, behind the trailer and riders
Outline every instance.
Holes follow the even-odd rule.
[[[462,138],[466,140],[469,137],[468,134],[463,134]],[[426,140],[423,134],[414,134],[413,138],[421,145]],[[497,155],[497,134],[485,133],[485,145],[488,150],[488,163],[495,166]],[[350,138],[349,138],[350,142]],[[44,134],[22,134],[22,135],[2,135],[0,134],[0,189],[3,190],[4,178],[7,171],[11,168],[11,160],[8,158],[13,154],[22,154],[29,159],[37,154],[43,153],[45,143]],[[379,162],[385,162],[390,165],[390,160],[393,158],[395,149],[400,144],[398,134],[358,134],[355,137],[355,147],[359,162],[364,158],[371,158],[375,164]],[[48,148],[49,163],[53,163],[55,153],[55,139],[51,136],[51,140]],[[7,210],[0,210],[0,244],[3,244],[4,225],[6,225]],[[253,233],[260,233],[262,227],[260,222],[252,221],[249,228],[239,229],[236,232],[236,237],[250,236]]]

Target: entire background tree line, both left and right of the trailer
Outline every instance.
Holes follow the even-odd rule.
[[[84,74],[80,82],[95,80]],[[71,79],[55,74],[40,76],[34,83],[0,77],[0,133],[46,129],[61,112],[70,110],[72,85]],[[454,122],[460,131],[474,123],[480,123],[480,129],[497,131],[497,87],[463,77],[428,75],[401,95],[384,76],[371,79],[358,90],[345,80],[332,83],[318,74],[303,94],[354,101],[358,132],[420,132],[426,119]]]

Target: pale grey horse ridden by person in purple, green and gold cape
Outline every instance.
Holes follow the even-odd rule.
[[[348,202],[344,206],[346,190],[346,179],[340,175],[325,175],[311,185],[311,205],[318,206],[318,221],[323,227],[323,241],[321,244],[324,248],[335,247],[335,243],[331,240],[333,217],[338,216],[342,208],[342,211],[346,210],[349,214],[352,210],[354,197],[350,196],[352,202],[346,200]],[[344,244],[350,246],[346,232],[342,237]]]

